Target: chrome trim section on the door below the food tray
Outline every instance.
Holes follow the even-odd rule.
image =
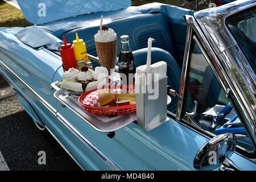
[[[62,115],[57,113],[57,118],[69,129],[72,131],[73,134],[76,135],[86,146],[88,146],[92,151],[96,153],[98,157],[105,161],[112,169],[116,171],[121,171],[121,169],[115,165],[106,155],[104,155],[97,147],[93,146],[93,144],[84,137],[75,127],[73,127]]]

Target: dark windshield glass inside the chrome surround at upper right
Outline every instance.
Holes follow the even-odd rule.
[[[256,9],[230,16],[226,23],[237,43],[247,56],[255,73],[256,68]]]

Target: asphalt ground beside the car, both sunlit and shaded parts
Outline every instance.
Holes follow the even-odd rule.
[[[9,85],[0,87],[0,171],[80,170],[48,131],[36,128]]]

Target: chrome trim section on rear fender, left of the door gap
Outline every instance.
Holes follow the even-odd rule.
[[[28,90],[30,90],[36,97],[38,97],[39,101],[44,105],[46,106],[46,108],[51,111],[51,113],[55,116],[56,113],[57,113],[57,110],[55,110],[51,105],[49,105],[41,96],[39,96],[38,93],[35,92],[34,89],[32,89],[25,81],[22,80],[22,78],[20,78],[18,75],[16,75],[13,71],[11,71],[11,69],[9,67],[7,67],[7,65],[5,65],[5,63],[3,63],[1,60],[0,60],[0,65],[5,68],[9,73],[11,73],[11,75],[13,75],[17,80],[19,80],[20,82],[22,82],[22,84],[24,86],[26,86],[26,88]]]

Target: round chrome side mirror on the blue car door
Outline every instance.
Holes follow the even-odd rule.
[[[193,166],[199,170],[213,170],[220,167],[220,171],[235,171],[239,169],[230,156],[236,150],[236,137],[231,133],[217,135],[210,139],[197,152]]]

